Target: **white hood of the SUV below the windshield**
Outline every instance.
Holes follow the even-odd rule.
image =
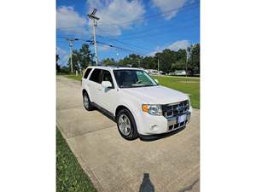
[[[181,102],[189,99],[189,96],[164,86],[148,86],[121,89],[126,94],[136,97],[147,104],[167,104]]]

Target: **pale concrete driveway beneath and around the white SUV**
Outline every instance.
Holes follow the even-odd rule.
[[[82,105],[80,82],[57,77],[57,126],[99,192],[200,191],[200,111],[183,131],[126,141],[99,111]]]

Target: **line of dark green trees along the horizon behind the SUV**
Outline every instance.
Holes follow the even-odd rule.
[[[187,55],[189,53],[189,55]],[[188,61],[187,61],[188,56]],[[88,44],[83,44],[81,49],[73,50],[73,71],[80,71],[88,66],[95,65],[94,54],[91,53]],[[58,65],[59,56],[56,55],[56,70],[58,73],[70,73],[71,61],[67,61],[67,67]],[[106,58],[99,63],[103,66],[129,66],[142,67],[145,69],[158,69],[164,73],[172,73],[175,70],[187,70],[190,75],[200,74],[200,44],[194,44],[188,49],[179,49],[177,51],[164,49],[155,55],[141,56],[131,54],[125,58],[115,61],[113,58]],[[187,63],[188,62],[188,63]]]

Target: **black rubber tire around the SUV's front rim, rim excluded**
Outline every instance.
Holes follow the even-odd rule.
[[[128,119],[130,120],[130,123],[131,123],[131,131],[128,135],[125,135],[122,133],[122,131],[120,131],[119,118],[121,117],[122,114],[125,114],[125,116],[128,117]],[[125,138],[126,140],[137,139],[137,137],[138,137],[137,125],[136,125],[135,119],[133,118],[131,112],[128,109],[124,108],[119,111],[119,113],[117,114],[116,122],[117,122],[118,130],[119,130],[119,134],[123,138]]]

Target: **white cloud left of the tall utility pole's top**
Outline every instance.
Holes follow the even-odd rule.
[[[86,33],[85,24],[86,19],[80,16],[72,6],[61,6],[57,9],[56,26],[62,32],[84,35]]]

